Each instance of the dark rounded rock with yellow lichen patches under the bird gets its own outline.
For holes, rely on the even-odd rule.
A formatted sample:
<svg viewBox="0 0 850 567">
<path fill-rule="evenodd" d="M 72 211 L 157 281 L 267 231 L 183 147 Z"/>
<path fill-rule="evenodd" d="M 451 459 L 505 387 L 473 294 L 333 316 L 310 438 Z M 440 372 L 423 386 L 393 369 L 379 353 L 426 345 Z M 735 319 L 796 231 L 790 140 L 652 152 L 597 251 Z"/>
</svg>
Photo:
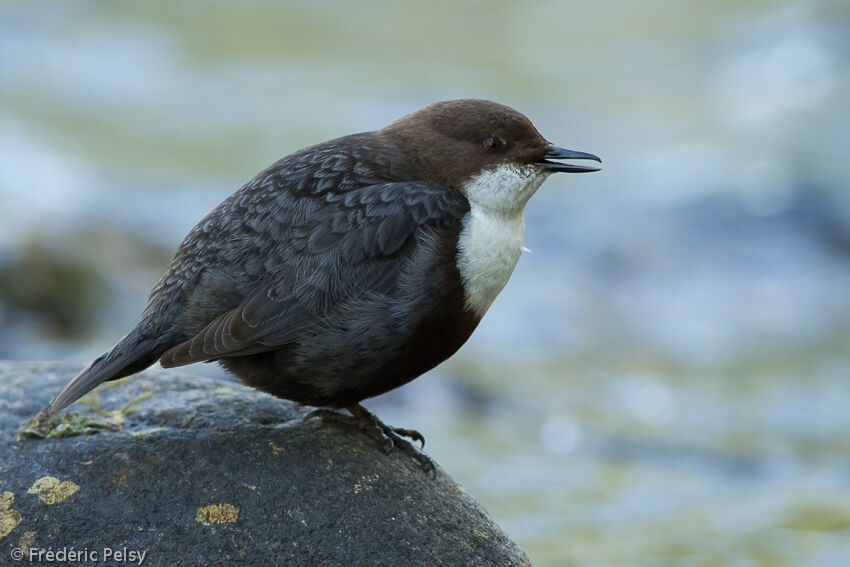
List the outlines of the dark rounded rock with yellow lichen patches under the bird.
<svg viewBox="0 0 850 567">
<path fill-rule="evenodd" d="M 442 469 L 236 383 L 143 372 L 16 440 L 78 370 L 0 362 L 0 564 L 529 565 Z"/>
</svg>

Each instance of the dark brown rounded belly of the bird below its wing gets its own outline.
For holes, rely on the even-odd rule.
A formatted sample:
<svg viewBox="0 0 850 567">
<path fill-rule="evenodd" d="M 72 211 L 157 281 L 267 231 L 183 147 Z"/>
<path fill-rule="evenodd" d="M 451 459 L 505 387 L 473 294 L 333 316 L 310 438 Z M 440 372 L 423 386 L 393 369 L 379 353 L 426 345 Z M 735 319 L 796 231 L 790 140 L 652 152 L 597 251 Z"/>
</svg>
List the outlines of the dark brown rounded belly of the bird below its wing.
<svg viewBox="0 0 850 567">
<path fill-rule="evenodd" d="M 432 298 L 433 299 L 433 298 Z M 376 304 L 340 314 L 274 351 L 222 359 L 243 382 L 314 406 L 345 407 L 397 388 L 454 354 L 480 318 L 457 286 L 438 302 Z"/>
</svg>

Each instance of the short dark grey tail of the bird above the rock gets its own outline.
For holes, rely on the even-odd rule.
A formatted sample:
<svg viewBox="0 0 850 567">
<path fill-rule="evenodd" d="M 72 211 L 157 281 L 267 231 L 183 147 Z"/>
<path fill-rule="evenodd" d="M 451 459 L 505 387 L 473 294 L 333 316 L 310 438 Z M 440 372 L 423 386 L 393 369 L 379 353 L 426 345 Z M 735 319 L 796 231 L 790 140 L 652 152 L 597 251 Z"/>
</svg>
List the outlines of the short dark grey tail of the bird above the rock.
<svg viewBox="0 0 850 567">
<path fill-rule="evenodd" d="M 77 374 L 48 404 L 48 415 L 62 411 L 103 382 L 144 370 L 167 350 L 160 343 L 143 321 Z"/>
</svg>

